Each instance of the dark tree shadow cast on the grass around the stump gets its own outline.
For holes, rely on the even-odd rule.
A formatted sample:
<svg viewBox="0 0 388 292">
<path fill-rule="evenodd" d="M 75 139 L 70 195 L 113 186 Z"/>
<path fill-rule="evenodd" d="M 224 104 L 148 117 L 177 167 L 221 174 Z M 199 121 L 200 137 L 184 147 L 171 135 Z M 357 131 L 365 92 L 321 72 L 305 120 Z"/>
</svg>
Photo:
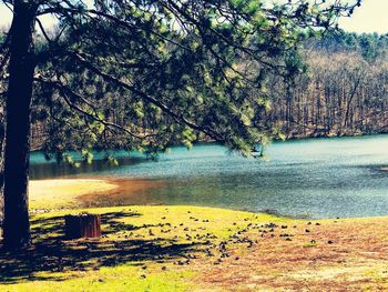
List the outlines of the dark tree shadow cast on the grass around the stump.
<svg viewBox="0 0 388 292">
<path fill-rule="evenodd" d="M 141 265 L 144 261 L 170 261 L 181 258 L 197 248 L 195 243 L 177 243 L 170 239 L 127 239 L 127 232 L 140 231 L 156 225 L 134 226 L 120 219 L 140 217 L 139 213 L 102 214 L 103 236 L 67 241 L 63 217 L 32 220 L 34 246 L 18 254 L 0 254 L 0 284 L 24 281 L 62 281 L 70 275 L 59 275 L 65 271 L 90 271 L 102 266 L 130 263 Z M 159 225 L 160 226 L 160 225 Z M 114 234 L 110 239 L 110 234 Z M 55 276 L 50 275 L 57 273 Z"/>
</svg>

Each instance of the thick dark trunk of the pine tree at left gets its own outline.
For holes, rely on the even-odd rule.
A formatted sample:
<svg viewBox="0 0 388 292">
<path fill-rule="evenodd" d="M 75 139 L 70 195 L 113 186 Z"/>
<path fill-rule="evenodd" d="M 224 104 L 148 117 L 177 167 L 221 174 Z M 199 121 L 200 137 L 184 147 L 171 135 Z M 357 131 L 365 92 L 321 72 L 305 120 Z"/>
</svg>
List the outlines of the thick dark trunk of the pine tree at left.
<svg viewBox="0 0 388 292">
<path fill-rule="evenodd" d="M 4 160 L 3 248 L 18 250 L 30 244 L 28 208 L 29 137 L 34 72 L 32 1 L 16 0 L 10 43 Z"/>
</svg>

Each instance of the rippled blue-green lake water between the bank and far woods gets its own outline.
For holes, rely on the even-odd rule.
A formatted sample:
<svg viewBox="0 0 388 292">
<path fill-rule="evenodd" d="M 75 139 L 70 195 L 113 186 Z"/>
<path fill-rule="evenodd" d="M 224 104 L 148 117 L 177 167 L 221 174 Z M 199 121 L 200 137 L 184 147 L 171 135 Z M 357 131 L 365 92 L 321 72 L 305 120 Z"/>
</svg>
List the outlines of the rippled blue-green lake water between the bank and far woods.
<svg viewBox="0 0 388 292">
<path fill-rule="evenodd" d="M 193 204 L 274 211 L 310 218 L 388 214 L 388 135 L 275 142 L 266 160 L 244 159 L 217 144 L 187 151 L 172 148 L 159 162 L 140 153 L 118 153 L 119 167 L 96 155 L 79 170 L 31 155 L 31 178 L 120 177 L 162 181 L 159 188 L 129 195 L 125 204 Z M 112 202 L 114 204 L 114 202 Z"/>
</svg>

